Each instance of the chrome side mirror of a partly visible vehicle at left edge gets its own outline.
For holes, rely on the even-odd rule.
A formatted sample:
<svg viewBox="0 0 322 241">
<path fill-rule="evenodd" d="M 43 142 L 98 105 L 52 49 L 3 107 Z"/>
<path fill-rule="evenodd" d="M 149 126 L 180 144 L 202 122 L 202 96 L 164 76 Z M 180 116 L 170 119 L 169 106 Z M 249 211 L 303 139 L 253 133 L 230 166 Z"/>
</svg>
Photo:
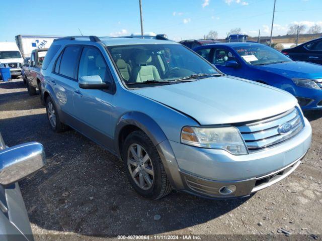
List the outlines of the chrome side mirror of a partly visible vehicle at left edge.
<svg viewBox="0 0 322 241">
<path fill-rule="evenodd" d="M 0 184 L 7 186 L 42 168 L 46 163 L 44 147 L 38 142 L 0 151 Z"/>
</svg>

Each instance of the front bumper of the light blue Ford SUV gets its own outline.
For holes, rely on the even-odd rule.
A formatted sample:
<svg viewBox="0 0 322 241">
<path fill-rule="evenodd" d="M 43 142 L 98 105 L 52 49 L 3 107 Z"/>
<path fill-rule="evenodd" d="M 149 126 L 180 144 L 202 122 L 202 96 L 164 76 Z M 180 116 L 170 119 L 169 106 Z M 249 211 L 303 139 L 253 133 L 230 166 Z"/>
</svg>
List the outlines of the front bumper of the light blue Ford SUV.
<svg viewBox="0 0 322 241">
<path fill-rule="evenodd" d="M 173 141 L 160 143 L 157 150 L 175 189 L 210 198 L 248 196 L 298 167 L 311 143 L 311 127 L 307 119 L 304 122 L 305 127 L 293 138 L 248 155 L 235 156 Z M 222 194 L 223 186 L 235 186 L 235 191 Z"/>
</svg>

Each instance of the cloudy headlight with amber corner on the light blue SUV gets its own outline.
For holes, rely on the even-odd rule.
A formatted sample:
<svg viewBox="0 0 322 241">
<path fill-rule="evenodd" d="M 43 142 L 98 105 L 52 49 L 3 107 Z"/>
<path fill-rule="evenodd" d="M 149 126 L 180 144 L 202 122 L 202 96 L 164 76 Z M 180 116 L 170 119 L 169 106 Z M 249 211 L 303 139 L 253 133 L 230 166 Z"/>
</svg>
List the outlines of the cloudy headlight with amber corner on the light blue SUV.
<svg viewBox="0 0 322 241">
<path fill-rule="evenodd" d="M 243 138 L 234 127 L 184 127 L 181 142 L 190 146 L 223 149 L 234 155 L 248 154 Z"/>
</svg>

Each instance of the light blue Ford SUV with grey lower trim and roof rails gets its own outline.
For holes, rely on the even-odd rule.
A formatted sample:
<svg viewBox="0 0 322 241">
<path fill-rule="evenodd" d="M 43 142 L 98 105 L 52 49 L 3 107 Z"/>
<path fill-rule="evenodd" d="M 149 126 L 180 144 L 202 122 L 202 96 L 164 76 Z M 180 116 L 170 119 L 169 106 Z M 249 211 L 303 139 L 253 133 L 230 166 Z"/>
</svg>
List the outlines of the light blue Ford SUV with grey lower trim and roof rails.
<svg viewBox="0 0 322 241">
<path fill-rule="evenodd" d="M 150 199 L 173 188 L 248 196 L 294 171 L 311 143 L 291 94 L 225 76 L 172 41 L 61 38 L 41 71 L 51 129 L 69 126 L 120 157 Z"/>
</svg>

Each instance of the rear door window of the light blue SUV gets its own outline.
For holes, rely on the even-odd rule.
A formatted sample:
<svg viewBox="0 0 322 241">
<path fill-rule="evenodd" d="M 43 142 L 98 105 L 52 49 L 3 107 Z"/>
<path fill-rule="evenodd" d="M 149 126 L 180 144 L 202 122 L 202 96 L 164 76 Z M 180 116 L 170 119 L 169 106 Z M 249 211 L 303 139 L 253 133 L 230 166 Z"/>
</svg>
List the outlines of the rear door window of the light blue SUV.
<svg viewBox="0 0 322 241">
<path fill-rule="evenodd" d="M 59 74 L 69 78 L 74 78 L 74 71 L 78 61 L 79 50 L 81 50 L 81 47 L 79 46 L 70 46 L 65 48 L 60 60 Z"/>
</svg>

